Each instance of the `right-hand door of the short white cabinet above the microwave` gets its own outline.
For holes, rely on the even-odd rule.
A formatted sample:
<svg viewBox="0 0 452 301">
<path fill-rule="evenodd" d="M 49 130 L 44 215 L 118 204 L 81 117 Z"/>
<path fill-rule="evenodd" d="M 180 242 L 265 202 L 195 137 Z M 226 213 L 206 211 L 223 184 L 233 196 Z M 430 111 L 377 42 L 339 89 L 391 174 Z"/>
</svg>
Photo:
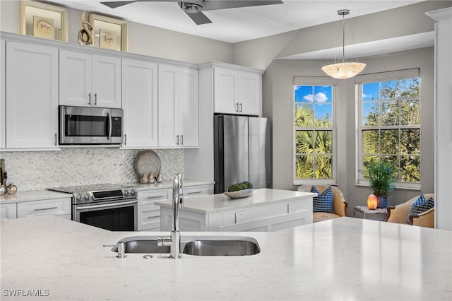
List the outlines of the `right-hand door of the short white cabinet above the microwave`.
<svg viewBox="0 0 452 301">
<path fill-rule="evenodd" d="M 93 54 L 93 106 L 121 108 L 121 59 Z"/>
</svg>

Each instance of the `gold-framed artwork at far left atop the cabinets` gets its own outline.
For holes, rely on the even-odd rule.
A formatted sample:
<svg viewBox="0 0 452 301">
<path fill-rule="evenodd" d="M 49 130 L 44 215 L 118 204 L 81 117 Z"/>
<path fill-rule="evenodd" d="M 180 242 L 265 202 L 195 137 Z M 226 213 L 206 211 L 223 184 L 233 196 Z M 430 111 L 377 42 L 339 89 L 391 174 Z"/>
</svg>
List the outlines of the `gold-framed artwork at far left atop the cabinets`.
<svg viewBox="0 0 452 301">
<path fill-rule="evenodd" d="M 67 42 L 66 8 L 35 1 L 20 1 L 20 33 Z"/>
</svg>

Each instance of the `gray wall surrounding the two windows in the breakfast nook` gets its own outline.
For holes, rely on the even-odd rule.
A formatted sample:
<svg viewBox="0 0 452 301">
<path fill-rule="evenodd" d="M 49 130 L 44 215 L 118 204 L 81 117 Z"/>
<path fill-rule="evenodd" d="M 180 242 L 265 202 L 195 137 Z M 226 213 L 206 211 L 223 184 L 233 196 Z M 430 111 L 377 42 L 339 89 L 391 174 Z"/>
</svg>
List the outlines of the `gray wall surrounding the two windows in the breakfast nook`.
<svg viewBox="0 0 452 301">
<path fill-rule="evenodd" d="M 364 73 L 420 68 L 421 71 L 421 149 L 422 191 L 396 189 L 389 205 L 403 203 L 411 197 L 434 191 L 434 49 L 428 47 L 406 52 L 361 58 L 367 64 Z M 273 187 L 296 189 L 293 184 L 293 77 L 324 76 L 321 66 L 327 61 L 275 60 L 266 73 L 263 114 L 273 119 Z M 329 63 L 328 63 L 329 64 Z M 269 87 L 270 86 L 270 87 Z M 371 193 L 368 187 L 358 187 L 355 179 L 356 128 L 355 80 L 340 80 L 336 100 L 338 188 L 349 202 L 349 214 L 357 205 L 365 205 Z"/>
</svg>

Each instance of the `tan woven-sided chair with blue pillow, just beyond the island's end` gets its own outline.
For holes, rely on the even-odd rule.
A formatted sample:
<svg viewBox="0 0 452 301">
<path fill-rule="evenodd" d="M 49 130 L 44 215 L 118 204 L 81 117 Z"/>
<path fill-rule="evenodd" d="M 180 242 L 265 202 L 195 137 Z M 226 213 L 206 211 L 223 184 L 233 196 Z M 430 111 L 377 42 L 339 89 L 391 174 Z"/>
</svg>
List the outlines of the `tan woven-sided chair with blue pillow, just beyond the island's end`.
<svg viewBox="0 0 452 301">
<path fill-rule="evenodd" d="M 300 185 L 297 190 L 304 192 L 311 192 L 311 187 L 313 185 Z M 327 189 L 328 185 L 314 185 L 319 193 L 322 193 L 325 189 Z M 333 191 L 333 211 L 334 213 L 328 212 L 314 212 L 313 213 L 313 221 L 314 223 L 320 222 L 321 220 L 330 220 L 331 218 L 340 218 L 341 216 L 348 216 L 347 208 L 348 203 L 344 199 L 344 195 L 338 187 L 331 187 Z"/>
</svg>

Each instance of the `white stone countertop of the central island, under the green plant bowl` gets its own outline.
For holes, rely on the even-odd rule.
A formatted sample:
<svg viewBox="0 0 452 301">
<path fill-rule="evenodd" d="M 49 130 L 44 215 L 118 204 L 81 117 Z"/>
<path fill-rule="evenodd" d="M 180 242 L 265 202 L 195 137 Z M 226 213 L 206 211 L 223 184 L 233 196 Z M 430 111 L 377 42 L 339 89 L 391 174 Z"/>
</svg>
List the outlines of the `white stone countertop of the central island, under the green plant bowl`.
<svg viewBox="0 0 452 301">
<path fill-rule="evenodd" d="M 280 203 L 284 201 L 311 199 L 317 194 L 302 191 L 290 191 L 280 189 L 254 189 L 253 194 L 242 199 L 230 199 L 224 194 L 206 194 L 201 196 L 191 196 L 184 199 L 182 210 L 198 213 L 216 213 L 231 211 L 239 208 L 256 207 L 269 203 Z M 172 207 L 172 201 L 159 201 L 155 205 Z"/>
</svg>

